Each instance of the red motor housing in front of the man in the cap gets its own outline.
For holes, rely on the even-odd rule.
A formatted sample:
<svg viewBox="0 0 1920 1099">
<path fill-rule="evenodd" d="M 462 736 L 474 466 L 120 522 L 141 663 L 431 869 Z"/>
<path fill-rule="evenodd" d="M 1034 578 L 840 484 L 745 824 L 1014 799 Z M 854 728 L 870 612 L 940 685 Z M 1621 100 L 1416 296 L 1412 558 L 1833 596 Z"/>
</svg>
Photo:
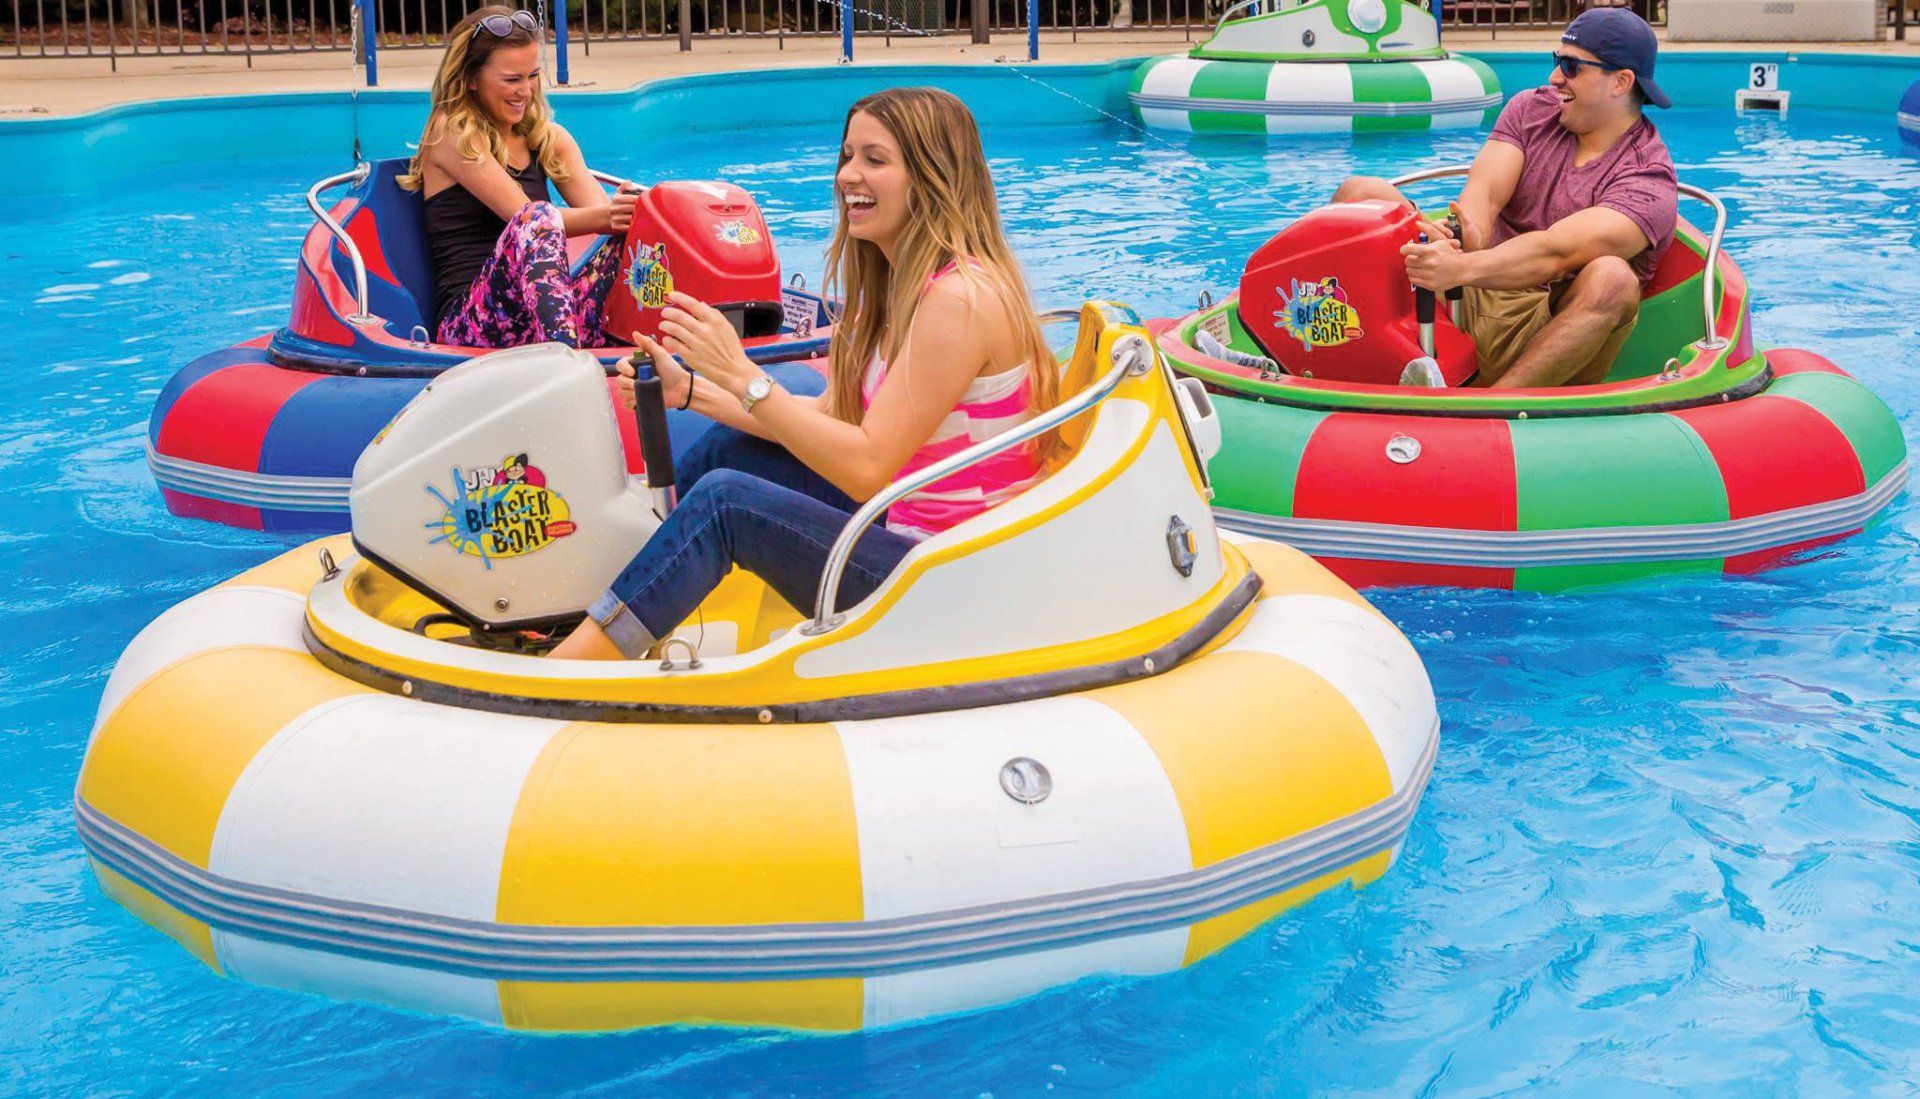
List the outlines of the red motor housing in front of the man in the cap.
<svg viewBox="0 0 1920 1099">
<path fill-rule="evenodd" d="M 1398 386 L 1400 371 L 1425 354 L 1400 257 L 1417 236 L 1417 215 L 1394 202 L 1323 206 L 1246 261 L 1240 323 L 1292 375 Z M 1444 307 L 1434 313 L 1434 361 L 1457 386 L 1478 354 Z"/>
</svg>

